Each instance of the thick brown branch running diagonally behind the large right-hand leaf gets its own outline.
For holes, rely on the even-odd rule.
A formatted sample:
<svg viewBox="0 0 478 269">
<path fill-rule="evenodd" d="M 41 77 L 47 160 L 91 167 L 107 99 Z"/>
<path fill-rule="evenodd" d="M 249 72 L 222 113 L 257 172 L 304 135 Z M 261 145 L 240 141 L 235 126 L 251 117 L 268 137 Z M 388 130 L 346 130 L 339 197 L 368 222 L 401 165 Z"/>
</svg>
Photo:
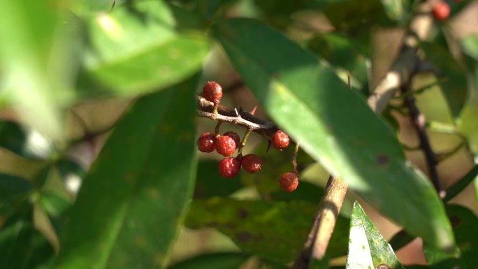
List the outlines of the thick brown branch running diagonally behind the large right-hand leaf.
<svg viewBox="0 0 478 269">
<path fill-rule="evenodd" d="M 419 58 L 417 47 L 419 40 L 424 39 L 430 31 L 433 19 L 429 1 L 421 1 L 417 13 L 410 22 L 409 29 L 403 39 L 402 47 L 384 78 L 379 81 L 368 98 L 368 106 L 377 114 L 381 114 L 396 94 L 396 91 L 407 85 L 417 72 Z M 309 268 L 312 259 L 322 259 L 325 255 L 328 241 L 333 233 L 338 212 L 342 208 L 347 184 L 341 180 L 329 177 L 326 191 L 319 204 L 319 210 L 314 219 L 311 231 L 305 242 L 303 251 L 297 256 L 295 269 Z"/>
</svg>

